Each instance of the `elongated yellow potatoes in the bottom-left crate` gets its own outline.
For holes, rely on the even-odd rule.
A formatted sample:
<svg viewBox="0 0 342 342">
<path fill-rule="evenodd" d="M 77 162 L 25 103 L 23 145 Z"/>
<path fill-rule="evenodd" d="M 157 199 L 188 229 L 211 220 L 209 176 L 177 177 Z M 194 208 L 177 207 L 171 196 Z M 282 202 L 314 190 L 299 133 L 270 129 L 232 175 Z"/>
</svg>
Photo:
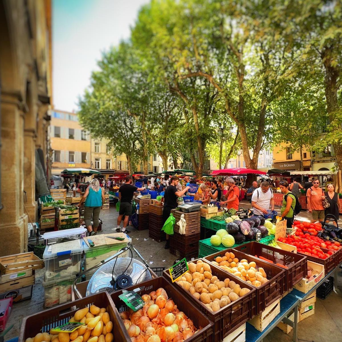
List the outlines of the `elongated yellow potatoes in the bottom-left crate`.
<svg viewBox="0 0 342 342">
<path fill-rule="evenodd" d="M 91 305 L 75 312 L 69 322 L 80 322 L 86 324 L 73 332 L 38 333 L 33 338 L 27 338 L 25 342 L 113 342 L 113 322 L 106 309 Z"/>
</svg>

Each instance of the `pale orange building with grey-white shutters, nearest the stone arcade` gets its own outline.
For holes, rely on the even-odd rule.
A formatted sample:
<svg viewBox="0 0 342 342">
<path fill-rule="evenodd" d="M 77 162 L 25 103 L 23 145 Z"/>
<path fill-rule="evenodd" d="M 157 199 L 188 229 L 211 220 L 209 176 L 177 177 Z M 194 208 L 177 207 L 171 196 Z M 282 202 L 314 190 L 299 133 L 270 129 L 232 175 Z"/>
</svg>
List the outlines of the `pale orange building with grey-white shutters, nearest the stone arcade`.
<svg viewBox="0 0 342 342">
<path fill-rule="evenodd" d="M 90 168 L 90 134 L 83 130 L 76 113 L 51 111 L 51 173 L 59 175 L 66 168 Z"/>
</svg>

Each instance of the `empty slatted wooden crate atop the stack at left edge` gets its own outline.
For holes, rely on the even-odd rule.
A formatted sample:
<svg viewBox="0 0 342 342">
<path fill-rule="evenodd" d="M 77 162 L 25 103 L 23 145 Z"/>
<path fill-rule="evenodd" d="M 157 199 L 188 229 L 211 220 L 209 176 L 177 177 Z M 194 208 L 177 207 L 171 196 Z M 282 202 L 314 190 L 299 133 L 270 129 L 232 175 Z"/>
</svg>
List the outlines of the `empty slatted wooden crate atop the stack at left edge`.
<svg viewBox="0 0 342 342">
<path fill-rule="evenodd" d="M 1 274 L 17 273 L 25 269 L 43 268 L 44 261 L 33 252 L 8 255 L 0 258 Z"/>
</svg>

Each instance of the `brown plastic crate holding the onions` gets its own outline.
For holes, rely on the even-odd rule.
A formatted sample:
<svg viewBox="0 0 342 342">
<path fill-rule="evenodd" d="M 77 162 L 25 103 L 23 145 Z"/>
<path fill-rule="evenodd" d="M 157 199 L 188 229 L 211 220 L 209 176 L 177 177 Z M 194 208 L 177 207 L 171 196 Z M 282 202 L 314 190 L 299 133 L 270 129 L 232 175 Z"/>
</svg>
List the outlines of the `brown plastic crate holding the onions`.
<svg viewBox="0 0 342 342">
<path fill-rule="evenodd" d="M 177 309 L 180 311 L 183 311 L 188 318 L 190 318 L 194 326 L 196 328 L 202 327 L 201 330 L 196 332 L 192 337 L 188 338 L 187 342 L 211 342 L 212 336 L 213 336 L 213 323 L 201 312 L 196 310 L 194 305 L 184 296 L 177 291 L 177 288 L 172 286 L 171 283 L 165 279 L 164 277 L 158 277 L 156 279 L 151 279 L 145 282 L 142 282 L 140 284 L 131 286 L 127 288 L 126 290 L 132 291 L 133 289 L 137 289 L 137 293 L 140 295 L 143 295 L 145 293 L 150 293 L 152 291 L 156 291 L 158 288 L 165 289 L 166 293 L 168 294 L 169 298 L 171 298 L 174 303 L 177 305 Z M 119 316 L 119 313 L 123 311 L 128 311 L 127 305 L 119 299 L 119 295 L 122 294 L 122 290 L 117 291 L 115 293 L 111 294 L 111 299 L 114 302 L 115 305 L 115 311 L 117 312 L 117 316 Z M 120 322 L 121 329 L 124 330 L 125 337 L 127 338 L 127 341 L 131 341 L 125 326 L 123 325 L 123 322 L 121 320 Z M 116 342 L 115 338 L 114 341 Z"/>
</svg>

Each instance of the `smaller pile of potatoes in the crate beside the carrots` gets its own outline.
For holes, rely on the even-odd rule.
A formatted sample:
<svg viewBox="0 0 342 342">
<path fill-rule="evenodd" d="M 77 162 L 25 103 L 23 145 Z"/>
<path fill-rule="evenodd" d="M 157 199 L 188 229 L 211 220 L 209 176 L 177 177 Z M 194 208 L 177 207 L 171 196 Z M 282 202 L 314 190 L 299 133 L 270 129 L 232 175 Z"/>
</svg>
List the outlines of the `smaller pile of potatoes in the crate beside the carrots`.
<svg viewBox="0 0 342 342">
<path fill-rule="evenodd" d="M 257 269 L 257 264 L 254 261 L 249 263 L 247 259 L 241 259 L 239 261 L 232 252 L 226 252 L 224 257 L 216 257 L 212 263 L 255 287 L 259 287 L 268 281 L 262 267 Z"/>
</svg>

